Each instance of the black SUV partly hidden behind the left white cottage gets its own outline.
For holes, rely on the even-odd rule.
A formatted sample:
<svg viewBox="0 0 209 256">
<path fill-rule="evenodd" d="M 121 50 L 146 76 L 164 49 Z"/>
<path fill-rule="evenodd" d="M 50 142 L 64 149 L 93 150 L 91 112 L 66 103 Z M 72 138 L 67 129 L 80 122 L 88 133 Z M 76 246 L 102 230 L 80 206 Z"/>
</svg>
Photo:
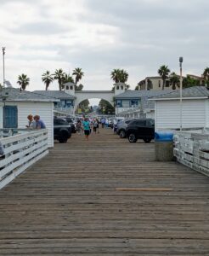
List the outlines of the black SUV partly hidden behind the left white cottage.
<svg viewBox="0 0 209 256">
<path fill-rule="evenodd" d="M 66 143 L 71 137 L 71 125 L 65 119 L 54 118 L 54 140 Z"/>
</svg>

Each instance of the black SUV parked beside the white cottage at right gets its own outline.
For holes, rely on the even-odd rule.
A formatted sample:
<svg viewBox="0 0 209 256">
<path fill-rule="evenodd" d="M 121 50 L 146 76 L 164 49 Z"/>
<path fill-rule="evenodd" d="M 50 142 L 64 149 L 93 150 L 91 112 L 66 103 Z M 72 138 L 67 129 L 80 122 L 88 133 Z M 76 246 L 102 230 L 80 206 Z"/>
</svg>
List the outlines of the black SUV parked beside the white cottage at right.
<svg viewBox="0 0 209 256">
<path fill-rule="evenodd" d="M 134 119 L 127 125 L 126 129 L 129 143 L 136 143 L 143 139 L 144 143 L 150 143 L 155 138 L 154 119 Z"/>
</svg>

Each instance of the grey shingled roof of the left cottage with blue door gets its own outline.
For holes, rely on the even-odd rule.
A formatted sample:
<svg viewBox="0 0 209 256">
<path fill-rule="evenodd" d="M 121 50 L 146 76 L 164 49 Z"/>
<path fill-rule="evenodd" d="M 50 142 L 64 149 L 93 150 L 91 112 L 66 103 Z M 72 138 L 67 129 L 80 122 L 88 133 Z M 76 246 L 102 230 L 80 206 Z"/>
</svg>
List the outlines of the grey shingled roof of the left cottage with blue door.
<svg viewBox="0 0 209 256">
<path fill-rule="evenodd" d="M 0 90 L 0 100 L 3 100 L 3 98 L 6 102 L 59 102 L 58 99 L 52 97 L 41 96 L 31 91 L 13 87 Z"/>
</svg>

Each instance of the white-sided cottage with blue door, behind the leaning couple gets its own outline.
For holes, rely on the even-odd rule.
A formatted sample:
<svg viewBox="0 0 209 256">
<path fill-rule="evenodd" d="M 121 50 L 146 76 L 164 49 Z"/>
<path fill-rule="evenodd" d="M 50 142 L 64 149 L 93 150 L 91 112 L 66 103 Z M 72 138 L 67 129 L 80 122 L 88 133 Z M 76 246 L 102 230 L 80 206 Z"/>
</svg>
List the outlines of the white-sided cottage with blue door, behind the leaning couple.
<svg viewBox="0 0 209 256">
<path fill-rule="evenodd" d="M 28 114 L 38 114 L 48 129 L 48 147 L 53 147 L 54 102 L 59 100 L 25 90 L 0 90 L 0 128 L 24 129 L 28 123 Z"/>
</svg>

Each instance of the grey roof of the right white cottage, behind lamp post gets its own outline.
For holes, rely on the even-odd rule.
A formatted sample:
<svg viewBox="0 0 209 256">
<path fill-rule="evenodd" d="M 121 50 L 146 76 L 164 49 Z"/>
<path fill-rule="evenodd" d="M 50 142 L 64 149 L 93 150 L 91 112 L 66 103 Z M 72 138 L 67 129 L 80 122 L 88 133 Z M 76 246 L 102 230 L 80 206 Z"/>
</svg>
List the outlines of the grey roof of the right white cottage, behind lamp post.
<svg viewBox="0 0 209 256">
<path fill-rule="evenodd" d="M 205 86 L 193 86 L 182 90 L 183 98 L 208 98 L 209 90 Z M 176 99 L 180 97 L 180 90 L 175 90 L 170 93 L 155 96 L 155 100 Z"/>
</svg>

